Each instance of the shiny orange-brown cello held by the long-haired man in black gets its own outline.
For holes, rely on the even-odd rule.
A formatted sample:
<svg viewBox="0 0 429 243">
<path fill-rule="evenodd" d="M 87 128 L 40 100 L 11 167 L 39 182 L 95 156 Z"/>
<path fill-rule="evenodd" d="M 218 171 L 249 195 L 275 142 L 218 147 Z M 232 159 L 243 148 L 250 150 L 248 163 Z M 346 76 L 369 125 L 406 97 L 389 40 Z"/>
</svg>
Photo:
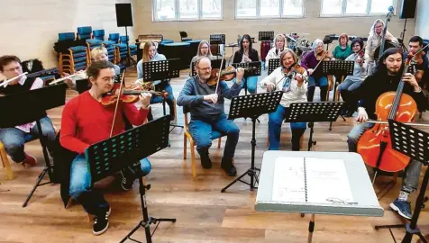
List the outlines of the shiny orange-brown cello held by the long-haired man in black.
<svg viewBox="0 0 429 243">
<path fill-rule="evenodd" d="M 358 141 L 357 152 L 361 154 L 365 164 L 376 168 L 374 178 L 378 170 L 397 172 L 404 169 L 410 161 L 410 157 L 392 148 L 388 124 L 382 121 L 392 119 L 410 122 L 415 118 L 417 103 L 409 94 L 403 94 L 405 82 L 402 79 L 414 58 L 406 59 L 397 91 L 379 95 L 376 102 L 377 121 L 370 121 L 375 125 L 366 130 Z"/>
</svg>

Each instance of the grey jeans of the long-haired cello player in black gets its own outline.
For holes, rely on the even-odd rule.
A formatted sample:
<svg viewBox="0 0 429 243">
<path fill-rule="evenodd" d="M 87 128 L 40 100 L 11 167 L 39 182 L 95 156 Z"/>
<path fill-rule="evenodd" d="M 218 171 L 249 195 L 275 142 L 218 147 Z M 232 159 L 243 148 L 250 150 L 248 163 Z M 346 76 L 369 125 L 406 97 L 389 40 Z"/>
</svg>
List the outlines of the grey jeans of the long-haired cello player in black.
<svg viewBox="0 0 429 243">
<path fill-rule="evenodd" d="M 360 123 L 353 127 L 350 133 L 347 135 L 347 143 L 349 145 L 349 152 L 357 152 L 358 141 L 365 130 L 369 130 L 374 126 L 373 123 Z M 418 187 L 418 180 L 420 178 L 420 170 L 422 169 L 422 163 L 411 159 L 408 166 L 406 166 L 406 175 L 402 181 L 402 191 L 407 193 L 413 193 Z"/>
</svg>

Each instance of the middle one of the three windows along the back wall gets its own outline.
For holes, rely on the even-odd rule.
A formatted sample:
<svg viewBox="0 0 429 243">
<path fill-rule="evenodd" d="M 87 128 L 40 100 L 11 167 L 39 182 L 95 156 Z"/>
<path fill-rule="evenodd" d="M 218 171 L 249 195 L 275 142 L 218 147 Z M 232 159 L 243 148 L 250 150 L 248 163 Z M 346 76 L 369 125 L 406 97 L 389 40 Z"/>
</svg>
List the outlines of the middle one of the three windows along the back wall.
<svg viewBox="0 0 429 243">
<path fill-rule="evenodd" d="M 303 16 L 304 0 L 235 0 L 236 18 Z"/>
</svg>

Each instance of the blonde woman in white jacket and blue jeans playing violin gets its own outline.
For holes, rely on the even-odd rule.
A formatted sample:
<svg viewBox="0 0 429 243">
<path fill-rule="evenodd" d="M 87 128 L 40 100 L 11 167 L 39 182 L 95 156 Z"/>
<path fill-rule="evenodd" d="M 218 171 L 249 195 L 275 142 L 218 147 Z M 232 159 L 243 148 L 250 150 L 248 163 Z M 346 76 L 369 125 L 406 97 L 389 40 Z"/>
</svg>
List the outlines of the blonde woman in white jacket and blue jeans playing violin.
<svg viewBox="0 0 429 243">
<path fill-rule="evenodd" d="M 280 104 L 276 112 L 269 113 L 269 150 L 280 147 L 281 124 L 285 120 L 290 103 L 307 102 L 306 88 L 308 75 L 304 67 L 297 64 L 298 58 L 291 49 L 286 49 L 280 56 L 280 67 L 262 79 L 260 86 L 268 92 L 282 90 Z M 306 131 L 306 122 L 290 123 L 292 130 L 292 150 L 299 151 L 300 139 Z"/>
</svg>

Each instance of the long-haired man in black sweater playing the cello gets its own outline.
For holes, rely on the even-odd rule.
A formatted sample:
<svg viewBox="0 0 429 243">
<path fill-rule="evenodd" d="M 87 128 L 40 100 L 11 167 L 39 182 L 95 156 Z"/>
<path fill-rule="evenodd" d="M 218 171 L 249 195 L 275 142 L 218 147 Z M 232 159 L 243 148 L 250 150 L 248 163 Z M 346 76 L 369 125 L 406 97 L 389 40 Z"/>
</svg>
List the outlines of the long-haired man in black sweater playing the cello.
<svg viewBox="0 0 429 243">
<path fill-rule="evenodd" d="M 368 76 L 362 82 L 361 86 L 356 89 L 355 98 L 357 99 L 356 101 L 359 101 L 356 121 L 361 123 L 355 125 L 347 135 L 350 152 L 357 151 L 358 141 L 363 132 L 374 126 L 374 123 L 366 121 L 369 119 L 377 120 L 375 108 L 379 96 L 389 91 L 396 92 L 401 77 L 405 82 L 403 93 L 413 97 L 419 111 L 424 110 L 425 98 L 422 88 L 418 85 L 414 75 L 406 73 L 405 76 L 402 76 L 404 67 L 402 49 L 387 49 L 381 58 L 379 58 L 379 65 L 375 73 Z M 414 160 L 410 161 L 406 167 L 406 176 L 403 180 L 399 197 L 390 203 L 390 208 L 397 211 L 406 219 L 411 219 L 412 216 L 408 195 L 415 192 L 418 186 L 421 167 L 421 163 Z"/>
</svg>

